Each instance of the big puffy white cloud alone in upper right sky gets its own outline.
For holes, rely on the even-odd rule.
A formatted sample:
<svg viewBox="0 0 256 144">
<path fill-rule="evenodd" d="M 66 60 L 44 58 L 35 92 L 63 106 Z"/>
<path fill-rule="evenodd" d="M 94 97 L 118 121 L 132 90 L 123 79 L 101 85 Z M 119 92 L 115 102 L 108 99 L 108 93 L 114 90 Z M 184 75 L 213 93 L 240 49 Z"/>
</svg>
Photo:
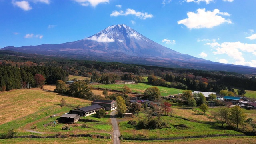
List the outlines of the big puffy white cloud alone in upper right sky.
<svg viewBox="0 0 256 144">
<path fill-rule="evenodd" d="M 213 28 L 214 26 L 218 26 L 224 22 L 231 24 L 230 19 L 222 18 L 219 15 L 228 16 L 229 14 L 226 12 L 220 12 L 220 10 L 215 9 L 211 11 L 205 11 L 205 9 L 197 9 L 197 13 L 188 12 L 188 18 L 178 21 L 178 24 L 184 24 L 187 28 Z"/>
</svg>

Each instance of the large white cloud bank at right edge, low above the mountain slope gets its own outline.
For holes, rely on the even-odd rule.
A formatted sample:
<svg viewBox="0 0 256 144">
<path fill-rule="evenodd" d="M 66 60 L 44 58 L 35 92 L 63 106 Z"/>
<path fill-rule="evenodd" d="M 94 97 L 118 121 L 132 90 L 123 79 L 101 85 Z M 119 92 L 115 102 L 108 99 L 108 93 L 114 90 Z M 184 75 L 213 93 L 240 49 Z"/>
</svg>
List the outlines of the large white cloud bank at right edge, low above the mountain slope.
<svg viewBox="0 0 256 144">
<path fill-rule="evenodd" d="M 206 45 L 210 45 L 215 50 L 213 52 L 214 55 L 225 54 L 235 60 L 233 64 L 256 67 L 256 60 L 246 62 L 243 57 L 244 54 L 256 54 L 256 44 L 246 44 L 241 42 L 224 42 L 219 44 L 215 42 L 207 43 Z"/>
</svg>

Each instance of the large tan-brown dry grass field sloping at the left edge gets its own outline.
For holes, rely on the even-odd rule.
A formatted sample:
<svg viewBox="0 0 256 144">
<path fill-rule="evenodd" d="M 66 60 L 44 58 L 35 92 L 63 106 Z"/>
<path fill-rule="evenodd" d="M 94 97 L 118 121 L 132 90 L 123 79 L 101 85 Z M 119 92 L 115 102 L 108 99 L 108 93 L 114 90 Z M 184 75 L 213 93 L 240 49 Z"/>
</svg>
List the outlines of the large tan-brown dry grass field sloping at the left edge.
<svg viewBox="0 0 256 144">
<path fill-rule="evenodd" d="M 49 106 L 52 106 L 53 109 L 60 108 L 58 104 L 62 98 L 69 104 L 84 106 L 90 103 L 88 100 L 63 96 L 40 88 L 1 92 L 0 124 L 28 116 Z M 40 112 L 38 114 L 40 115 Z"/>
</svg>

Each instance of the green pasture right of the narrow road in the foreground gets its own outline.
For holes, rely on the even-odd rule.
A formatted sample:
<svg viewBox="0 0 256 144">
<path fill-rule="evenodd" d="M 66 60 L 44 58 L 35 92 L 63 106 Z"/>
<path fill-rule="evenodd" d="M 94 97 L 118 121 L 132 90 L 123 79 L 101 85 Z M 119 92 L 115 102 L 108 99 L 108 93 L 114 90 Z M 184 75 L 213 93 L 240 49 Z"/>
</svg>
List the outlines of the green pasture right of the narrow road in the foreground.
<svg viewBox="0 0 256 144">
<path fill-rule="evenodd" d="M 203 136 L 215 134 L 242 134 L 241 132 L 226 130 L 217 126 L 203 124 L 198 122 L 190 122 L 181 118 L 170 116 L 162 116 L 163 121 L 169 122 L 170 128 L 162 128 L 155 130 L 138 129 L 136 126 L 127 124 L 128 121 L 119 123 L 120 133 L 124 138 L 172 138 L 184 136 Z M 185 124 L 188 128 L 177 128 L 177 125 Z"/>
</svg>

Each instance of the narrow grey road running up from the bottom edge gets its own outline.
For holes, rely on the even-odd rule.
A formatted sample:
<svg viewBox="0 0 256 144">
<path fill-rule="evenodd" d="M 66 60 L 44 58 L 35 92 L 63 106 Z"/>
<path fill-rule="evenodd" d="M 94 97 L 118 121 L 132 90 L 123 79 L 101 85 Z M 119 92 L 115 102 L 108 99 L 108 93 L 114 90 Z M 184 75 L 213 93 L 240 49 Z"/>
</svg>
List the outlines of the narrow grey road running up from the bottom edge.
<svg viewBox="0 0 256 144">
<path fill-rule="evenodd" d="M 116 121 L 116 118 L 115 118 L 114 114 L 116 114 L 116 111 L 112 111 L 110 113 L 110 115 L 111 115 L 111 124 L 113 126 L 113 140 L 114 140 L 114 144 L 120 144 L 120 140 L 119 140 L 120 131 L 119 131 L 118 124 L 117 124 L 117 121 Z"/>
</svg>

